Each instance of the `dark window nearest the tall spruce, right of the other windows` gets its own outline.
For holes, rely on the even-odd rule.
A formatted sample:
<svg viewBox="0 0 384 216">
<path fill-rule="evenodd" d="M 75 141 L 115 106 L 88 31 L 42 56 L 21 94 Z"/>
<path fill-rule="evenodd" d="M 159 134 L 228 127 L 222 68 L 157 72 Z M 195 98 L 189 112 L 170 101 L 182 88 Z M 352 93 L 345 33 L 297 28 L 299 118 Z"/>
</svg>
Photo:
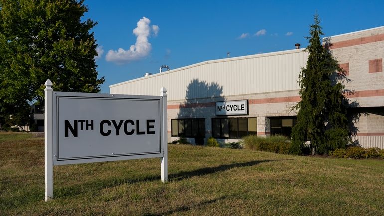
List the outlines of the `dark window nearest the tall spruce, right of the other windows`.
<svg viewBox="0 0 384 216">
<path fill-rule="evenodd" d="M 271 135 L 291 137 L 292 127 L 296 125 L 296 117 L 270 117 Z"/>
</svg>

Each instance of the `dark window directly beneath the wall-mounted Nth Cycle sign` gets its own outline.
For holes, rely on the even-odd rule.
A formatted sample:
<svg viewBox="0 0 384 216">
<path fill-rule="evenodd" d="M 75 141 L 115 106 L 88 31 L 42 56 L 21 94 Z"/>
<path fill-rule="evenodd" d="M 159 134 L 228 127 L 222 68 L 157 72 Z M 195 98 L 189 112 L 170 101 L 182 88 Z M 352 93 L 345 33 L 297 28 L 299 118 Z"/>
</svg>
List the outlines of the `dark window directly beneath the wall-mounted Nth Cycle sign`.
<svg viewBox="0 0 384 216">
<path fill-rule="evenodd" d="M 213 118 L 212 136 L 215 138 L 240 139 L 257 134 L 256 118 Z"/>
</svg>

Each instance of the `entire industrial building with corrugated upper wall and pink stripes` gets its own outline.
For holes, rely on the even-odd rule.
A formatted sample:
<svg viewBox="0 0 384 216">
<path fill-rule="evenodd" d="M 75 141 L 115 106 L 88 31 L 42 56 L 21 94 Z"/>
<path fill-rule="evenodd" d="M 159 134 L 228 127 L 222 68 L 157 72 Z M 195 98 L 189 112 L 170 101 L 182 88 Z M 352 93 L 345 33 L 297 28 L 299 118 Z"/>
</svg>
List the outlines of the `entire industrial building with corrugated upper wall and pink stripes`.
<svg viewBox="0 0 384 216">
<path fill-rule="evenodd" d="M 347 72 L 353 140 L 384 148 L 384 26 L 326 38 Z M 159 95 L 168 90 L 168 142 L 210 136 L 233 142 L 247 134 L 290 135 L 303 48 L 210 60 L 109 86 L 111 94 Z M 148 75 L 148 74 L 147 74 Z"/>
</svg>

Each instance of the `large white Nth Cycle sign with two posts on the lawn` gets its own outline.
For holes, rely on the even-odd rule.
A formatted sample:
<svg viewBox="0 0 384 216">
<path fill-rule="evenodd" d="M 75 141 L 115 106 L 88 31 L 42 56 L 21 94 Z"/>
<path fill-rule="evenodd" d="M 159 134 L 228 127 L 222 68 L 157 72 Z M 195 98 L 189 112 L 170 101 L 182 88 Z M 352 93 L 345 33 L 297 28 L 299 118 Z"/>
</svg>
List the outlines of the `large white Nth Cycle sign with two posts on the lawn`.
<svg viewBox="0 0 384 216">
<path fill-rule="evenodd" d="M 45 200 L 53 165 L 161 158 L 167 181 L 167 90 L 160 96 L 53 92 L 45 83 Z"/>
</svg>

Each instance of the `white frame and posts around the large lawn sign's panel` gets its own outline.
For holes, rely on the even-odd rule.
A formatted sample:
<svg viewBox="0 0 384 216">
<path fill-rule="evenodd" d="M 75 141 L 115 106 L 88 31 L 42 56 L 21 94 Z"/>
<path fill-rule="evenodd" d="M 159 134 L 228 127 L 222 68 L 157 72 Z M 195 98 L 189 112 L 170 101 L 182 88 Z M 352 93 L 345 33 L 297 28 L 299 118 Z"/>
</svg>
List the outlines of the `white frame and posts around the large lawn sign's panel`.
<svg viewBox="0 0 384 216">
<path fill-rule="evenodd" d="M 101 161 L 130 160 L 139 158 L 160 158 L 160 181 L 168 181 L 168 146 L 167 146 L 167 90 L 162 87 L 160 96 L 142 96 L 142 95 L 117 95 L 117 94 L 97 94 L 97 93 L 75 93 L 75 92 L 54 92 L 52 82 L 48 79 L 45 82 L 45 112 L 44 112 L 44 173 L 45 173 L 45 201 L 53 199 L 53 166 L 64 164 L 91 163 Z M 159 101 L 159 151 L 149 154 L 123 154 L 119 156 L 109 155 L 108 157 L 91 157 L 84 160 L 57 160 L 58 143 L 58 98 L 60 97 L 78 97 L 116 100 L 151 100 Z M 148 123 L 147 123 L 148 126 Z M 152 126 L 152 125 L 151 125 Z M 152 128 L 152 127 L 151 127 Z M 93 129 L 92 129 L 93 130 Z M 148 130 L 148 129 L 147 129 Z M 145 136 L 145 135 L 144 135 Z"/>
</svg>

